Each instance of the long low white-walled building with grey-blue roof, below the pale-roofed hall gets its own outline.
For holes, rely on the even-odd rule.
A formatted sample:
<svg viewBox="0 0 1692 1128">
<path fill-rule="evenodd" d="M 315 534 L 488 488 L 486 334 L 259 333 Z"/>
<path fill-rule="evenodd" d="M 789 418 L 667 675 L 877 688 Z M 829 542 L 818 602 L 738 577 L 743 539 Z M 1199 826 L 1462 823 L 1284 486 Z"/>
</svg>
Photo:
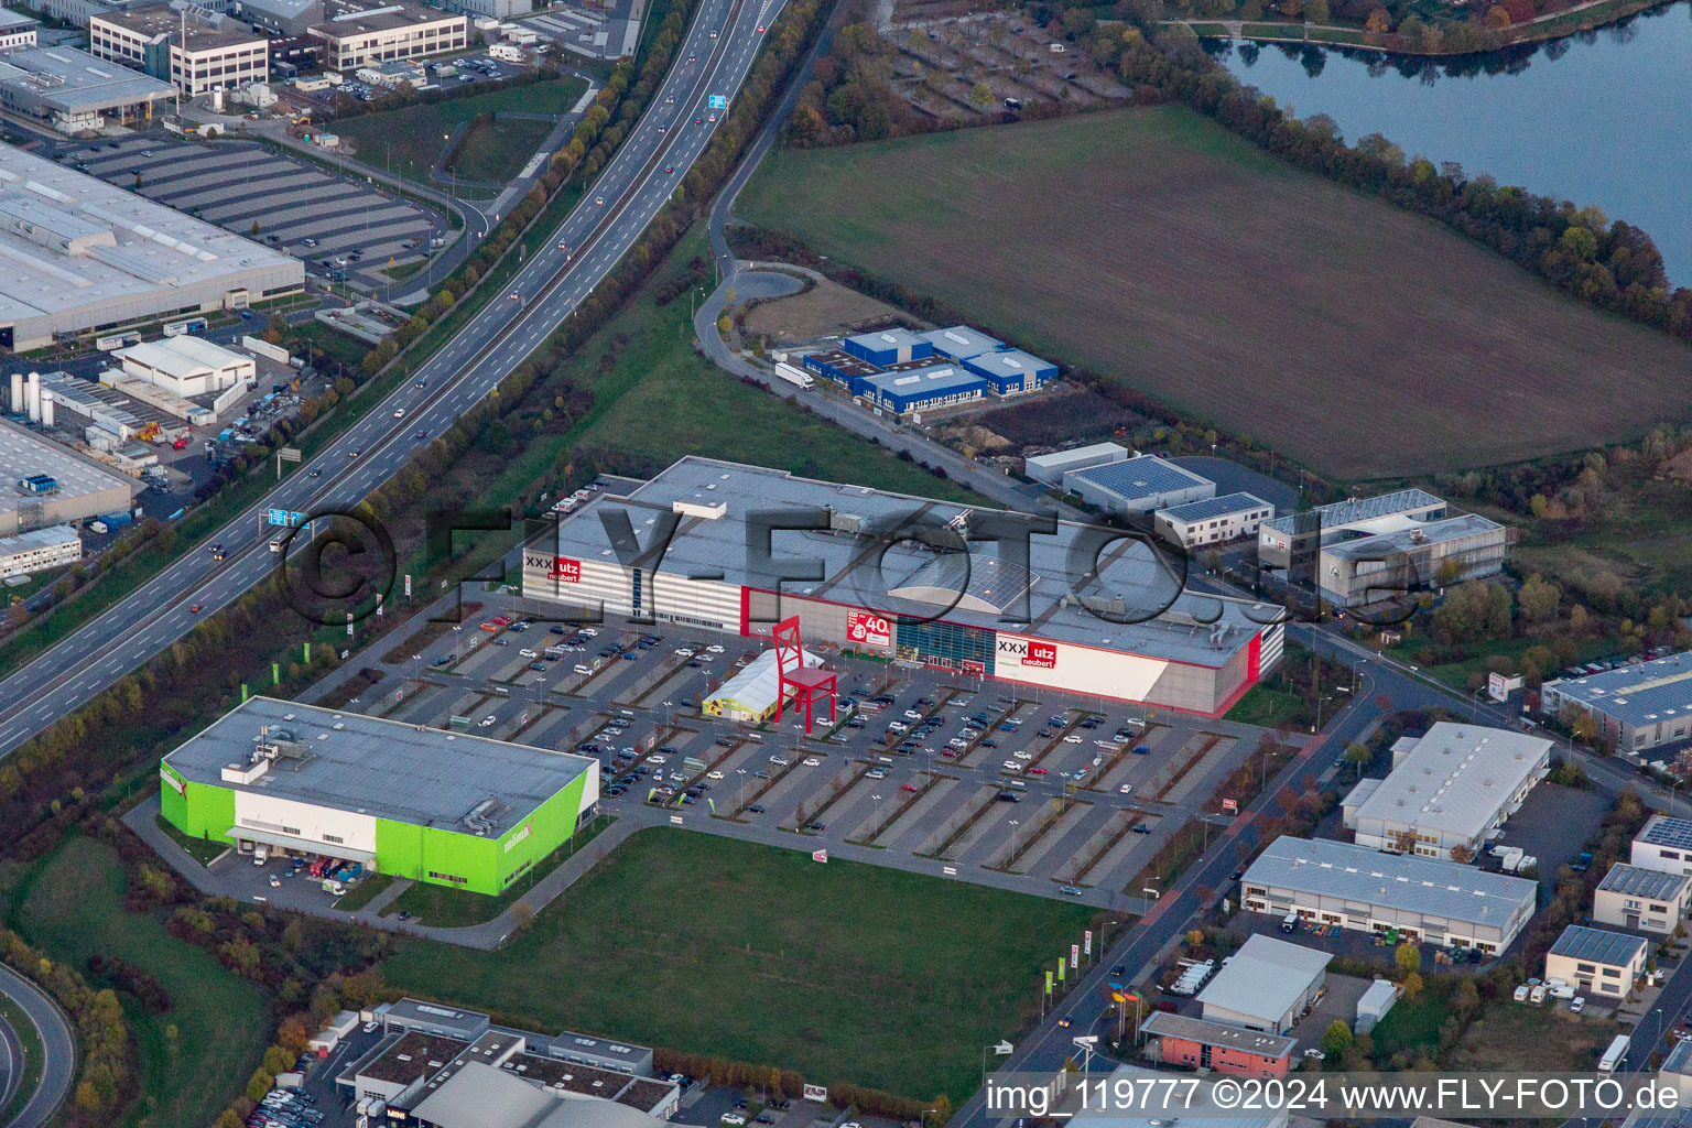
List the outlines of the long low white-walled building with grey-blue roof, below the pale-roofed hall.
<svg viewBox="0 0 1692 1128">
<path fill-rule="evenodd" d="M 1533 917 L 1538 890 L 1536 881 L 1474 866 L 1284 834 L 1245 869 L 1240 905 L 1494 956 Z"/>
</svg>

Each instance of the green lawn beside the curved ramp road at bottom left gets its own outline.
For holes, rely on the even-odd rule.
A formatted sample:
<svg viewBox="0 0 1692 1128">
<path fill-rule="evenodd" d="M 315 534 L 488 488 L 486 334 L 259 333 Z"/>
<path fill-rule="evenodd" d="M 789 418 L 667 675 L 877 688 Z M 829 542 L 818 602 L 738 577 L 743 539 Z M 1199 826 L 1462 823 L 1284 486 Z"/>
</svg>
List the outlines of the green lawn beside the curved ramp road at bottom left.
<svg viewBox="0 0 1692 1128">
<path fill-rule="evenodd" d="M 14 927 L 51 959 L 81 969 L 95 952 L 118 956 L 169 991 L 173 1006 L 164 1015 L 124 999 L 146 1094 L 122 1121 L 125 1128 L 210 1125 L 262 1060 L 271 1023 L 264 993 L 156 918 L 125 913 L 124 871 L 103 842 L 78 835 L 49 856 Z M 174 1043 L 169 1027 L 176 1027 Z"/>
</svg>

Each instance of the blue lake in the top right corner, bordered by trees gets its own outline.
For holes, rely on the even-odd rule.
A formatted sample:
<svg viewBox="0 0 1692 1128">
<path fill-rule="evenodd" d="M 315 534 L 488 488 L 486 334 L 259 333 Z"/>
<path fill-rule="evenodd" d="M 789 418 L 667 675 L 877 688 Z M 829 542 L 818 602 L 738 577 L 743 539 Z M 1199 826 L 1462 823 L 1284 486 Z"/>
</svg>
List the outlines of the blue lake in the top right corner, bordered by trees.
<svg viewBox="0 0 1692 1128">
<path fill-rule="evenodd" d="M 1597 205 L 1692 286 L 1692 3 L 1445 64 L 1288 49 L 1237 42 L 1218 61 L 1298 117 L 1327 113 L 1349 142 L 1384 134 L 1409 156 Z"/>
</svg>

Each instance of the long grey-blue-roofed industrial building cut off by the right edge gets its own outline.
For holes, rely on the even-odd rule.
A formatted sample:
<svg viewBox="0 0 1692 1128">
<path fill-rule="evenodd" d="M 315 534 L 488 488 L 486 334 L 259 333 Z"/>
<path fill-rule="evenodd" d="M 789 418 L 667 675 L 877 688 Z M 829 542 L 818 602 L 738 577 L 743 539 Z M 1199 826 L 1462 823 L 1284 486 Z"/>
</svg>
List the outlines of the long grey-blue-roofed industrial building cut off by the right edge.
<svg viewBox="0 0 1692 1128">
<path fill-rule="evenodd" d="M 1563 724 L 1590 717 L 1597 739 L 1621 753 L 1685 741 L 1692 736 L 1692 651 L 1546 682 L 1540 709 Z"/>
</svg>

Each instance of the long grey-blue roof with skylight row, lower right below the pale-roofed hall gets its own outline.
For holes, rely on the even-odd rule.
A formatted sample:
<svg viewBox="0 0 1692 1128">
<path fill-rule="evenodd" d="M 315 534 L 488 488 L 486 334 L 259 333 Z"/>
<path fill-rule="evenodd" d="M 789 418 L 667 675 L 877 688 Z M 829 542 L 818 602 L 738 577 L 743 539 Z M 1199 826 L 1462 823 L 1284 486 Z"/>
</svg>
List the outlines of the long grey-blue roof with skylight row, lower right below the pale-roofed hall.
<svg viewBox="0 0 1692 1128">
<path fill-rule="evenodd" d="M 1497 928 L 1521 910 L 1533 912 L 1540 890 L 1536 881 L 1435 857 L 1289 834 L 1257 856 L 1244 881 Z"/>
</svg>

